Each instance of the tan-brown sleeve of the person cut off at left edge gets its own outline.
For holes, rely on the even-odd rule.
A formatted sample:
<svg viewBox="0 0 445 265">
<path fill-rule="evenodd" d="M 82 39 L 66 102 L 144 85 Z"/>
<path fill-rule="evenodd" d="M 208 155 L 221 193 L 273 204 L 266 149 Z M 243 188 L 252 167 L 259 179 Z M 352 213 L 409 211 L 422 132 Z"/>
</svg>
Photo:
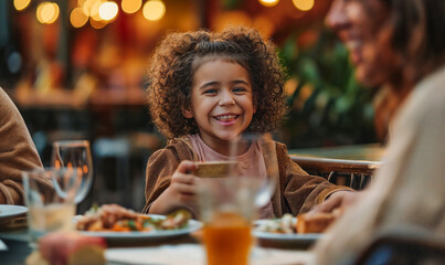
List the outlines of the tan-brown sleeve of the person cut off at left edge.
<svg viewBox="0 0 445 265">
<path fill-rule="evenodd" d="M 23 204 L 22 170 L 42 168 L 22 116 L 0 87 L 0 204 Z M 51 182 L 42 180 L 43 186 Z"/>
</svg>

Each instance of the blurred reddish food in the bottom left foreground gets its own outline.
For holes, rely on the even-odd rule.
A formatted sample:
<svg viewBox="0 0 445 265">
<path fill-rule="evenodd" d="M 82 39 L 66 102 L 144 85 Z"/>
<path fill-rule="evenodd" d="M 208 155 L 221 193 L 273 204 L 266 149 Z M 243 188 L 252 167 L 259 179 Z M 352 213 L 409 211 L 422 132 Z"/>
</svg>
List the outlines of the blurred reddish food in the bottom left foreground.
<svg viewBox="0 0 445 265">
<path fill-rule="evenodd" d="M 39 250 L 28 256 L 27 265 L 105 264 L 107 243 L 102 237 L 77 232 L 54 232 L 39 240 Z"/>
</svg>

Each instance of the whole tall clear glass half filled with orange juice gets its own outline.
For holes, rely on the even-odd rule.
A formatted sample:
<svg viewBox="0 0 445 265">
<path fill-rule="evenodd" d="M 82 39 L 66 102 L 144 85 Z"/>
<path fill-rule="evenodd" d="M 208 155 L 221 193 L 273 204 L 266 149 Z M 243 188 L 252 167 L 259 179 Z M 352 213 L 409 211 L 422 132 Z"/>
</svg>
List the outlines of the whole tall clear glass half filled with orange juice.
<svg viewBox="0 0 445 265">
<path fill-rule="evenodd" d="M 198 187 L 208 265 L 247 265 L 255 216 L 248 183 L 241 178 L 203 178 Z"/>
</svg>

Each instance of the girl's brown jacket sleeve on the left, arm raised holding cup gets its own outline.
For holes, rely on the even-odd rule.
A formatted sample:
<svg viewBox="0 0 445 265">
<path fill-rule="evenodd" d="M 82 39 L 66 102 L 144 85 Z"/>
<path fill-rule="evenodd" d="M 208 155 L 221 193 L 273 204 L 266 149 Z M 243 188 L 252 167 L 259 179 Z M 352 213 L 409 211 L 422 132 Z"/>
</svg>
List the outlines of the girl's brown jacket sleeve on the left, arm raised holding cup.
<svg viewBox="0 0 445 265">
<path fill-rule="evenodd" d="M 183 138 L 171 140 L 166 148 L 151 155 L 147 162 L 146 205 L 142 213 L 148 213 L 151 203 L 170 186 L 170 178 L 182 160 L 197 160 Z"/>
</svg>

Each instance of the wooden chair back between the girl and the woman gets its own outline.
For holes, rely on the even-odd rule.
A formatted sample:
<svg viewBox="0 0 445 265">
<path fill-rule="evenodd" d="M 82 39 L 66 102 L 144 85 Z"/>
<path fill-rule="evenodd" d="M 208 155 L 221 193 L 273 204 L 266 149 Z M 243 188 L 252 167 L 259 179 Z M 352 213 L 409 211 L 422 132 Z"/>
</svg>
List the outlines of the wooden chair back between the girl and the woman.
<svg viewBox="0 0 445 265">
<path fill-rule="evenodd" d="M 290 156 L 309 174 L 327 179 L 335 184 L 362 190 L 371 180 L 380 162 Z"/>
</svg>

